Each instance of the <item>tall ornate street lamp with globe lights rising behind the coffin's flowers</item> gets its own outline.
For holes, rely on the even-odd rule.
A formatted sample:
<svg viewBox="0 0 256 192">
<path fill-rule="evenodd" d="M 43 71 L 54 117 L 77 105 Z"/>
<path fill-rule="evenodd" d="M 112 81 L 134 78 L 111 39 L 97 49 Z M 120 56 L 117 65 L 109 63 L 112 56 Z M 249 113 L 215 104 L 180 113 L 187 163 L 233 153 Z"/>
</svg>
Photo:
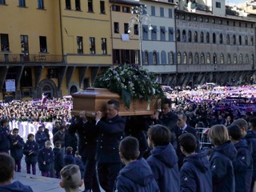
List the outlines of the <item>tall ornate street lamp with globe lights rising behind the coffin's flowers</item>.
<svg viewBox="0 0 256 192">
<path fill-rule="evenodd" d="M 138 40 L 139 40 L 139 64 L 142 66 L 142 25 L 147 25 L 149 30 L 153 30 L 151 26 L 151 18 L 149 14 L 146 14 L 146 5 L 131 7 L 131 14 L 136 14 L 129 19 L 129 29 L 128 33 L 130 34 L 130 28 L 138 25 Z"/>
</svg>

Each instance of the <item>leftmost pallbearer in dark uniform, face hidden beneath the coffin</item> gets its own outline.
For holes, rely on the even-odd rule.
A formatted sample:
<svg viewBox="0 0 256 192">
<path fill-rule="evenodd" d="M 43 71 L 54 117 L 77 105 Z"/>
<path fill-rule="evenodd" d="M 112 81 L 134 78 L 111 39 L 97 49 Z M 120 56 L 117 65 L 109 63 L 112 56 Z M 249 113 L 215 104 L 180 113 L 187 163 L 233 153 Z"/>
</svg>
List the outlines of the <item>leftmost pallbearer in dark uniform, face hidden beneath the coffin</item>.
<svg viewBox="0 0 256 192">
<path fill-rule="evenodd" d="M 86 118 L 86 111 L 81 111 L 79 117 L 73 118 L 70 124 L 69 132 L 74 134 L 78 132 L 78 152 L 82 157 L 85 167 L 84 185 L 85 192 L 93 190 L 100 192 L 96 175 L 96 146 L 97 146 L 97 130 L 93 123 Z"/>
</svg>

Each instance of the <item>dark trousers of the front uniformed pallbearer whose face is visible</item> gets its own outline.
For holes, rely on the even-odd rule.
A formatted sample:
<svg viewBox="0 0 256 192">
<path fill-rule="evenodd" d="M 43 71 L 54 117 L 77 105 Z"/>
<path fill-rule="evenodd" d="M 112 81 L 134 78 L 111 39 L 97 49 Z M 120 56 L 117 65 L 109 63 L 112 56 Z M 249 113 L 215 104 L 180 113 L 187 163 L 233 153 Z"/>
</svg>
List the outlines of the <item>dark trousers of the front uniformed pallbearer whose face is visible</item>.
<svg viewBox="0 0 256 192">
<path fill-rule="evenodd" d="M 106 192 L 112 192 L 114 189 L 115 179 L 121 170 L 121 162 L 100 163 L 98 162 L 98 180 L 102 189 Z"/>
</svg>

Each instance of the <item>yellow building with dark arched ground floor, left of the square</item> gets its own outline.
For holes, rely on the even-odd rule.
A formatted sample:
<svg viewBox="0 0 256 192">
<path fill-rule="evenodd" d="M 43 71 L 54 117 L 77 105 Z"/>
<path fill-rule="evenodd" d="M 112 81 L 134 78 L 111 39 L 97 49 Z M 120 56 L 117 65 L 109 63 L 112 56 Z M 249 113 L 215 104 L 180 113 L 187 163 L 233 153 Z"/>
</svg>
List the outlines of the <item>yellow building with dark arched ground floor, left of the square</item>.
<svg viewBox="0 0 256 192">
<path fill-rule="evenodd" d="M 5 0 L 0 15 L 0 99 L 72 94 L 112 65 L 108 1 Z"/>
</svg>

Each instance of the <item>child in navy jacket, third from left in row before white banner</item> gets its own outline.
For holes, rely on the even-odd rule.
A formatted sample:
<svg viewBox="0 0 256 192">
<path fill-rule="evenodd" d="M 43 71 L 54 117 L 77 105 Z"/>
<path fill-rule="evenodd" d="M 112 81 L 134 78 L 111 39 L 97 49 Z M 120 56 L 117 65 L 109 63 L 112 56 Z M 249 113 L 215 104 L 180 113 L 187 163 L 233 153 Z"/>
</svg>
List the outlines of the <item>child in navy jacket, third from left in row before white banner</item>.
<svg viewBox="0 0 256 192">
<path fill-rule="evenodd" d="M 27 141 L 24 146 L 23 153 L 26 155 L 25 162 L 26 162 L 26 173 L 30 174 L 30 167 L 32 166 L 32 173 L 36 174 L 36 167 L 35 165 L 38 162 L 38 150 L 39 146 L 38 143 L 34 141 L 34 134 L 27 135 Z"/>
</svg>

